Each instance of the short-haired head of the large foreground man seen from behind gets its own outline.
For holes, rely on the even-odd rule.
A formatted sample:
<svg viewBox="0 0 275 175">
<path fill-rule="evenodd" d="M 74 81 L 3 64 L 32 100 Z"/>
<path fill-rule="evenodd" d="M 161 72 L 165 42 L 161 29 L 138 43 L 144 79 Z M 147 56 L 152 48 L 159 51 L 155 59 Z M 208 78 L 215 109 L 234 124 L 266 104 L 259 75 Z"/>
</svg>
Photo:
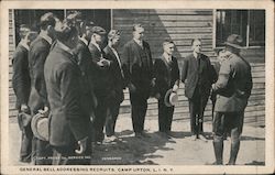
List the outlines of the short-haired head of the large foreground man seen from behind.
<svg viewBox="0 0 275 175">
<path fill-rule="evenodd" d="M 66 20 L 64 22 L 57 23 L 55 31 L 56 39 L 61 42 L 66 42 L 78 34 L 77 28 L 72 23 L 67 22 Z"/>
</svg>

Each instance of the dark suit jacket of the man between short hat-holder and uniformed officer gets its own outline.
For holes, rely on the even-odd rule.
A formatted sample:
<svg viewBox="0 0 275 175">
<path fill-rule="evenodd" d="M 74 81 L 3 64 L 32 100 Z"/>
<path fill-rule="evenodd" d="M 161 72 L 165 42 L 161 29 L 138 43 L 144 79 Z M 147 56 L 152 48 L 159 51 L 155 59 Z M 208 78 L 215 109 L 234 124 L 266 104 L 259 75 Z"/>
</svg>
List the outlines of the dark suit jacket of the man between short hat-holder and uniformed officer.
<svg viewBox="0 0 275 175">
<path fill-rule="evenodd" d="M 184 59 L 182 81 L 185 84 L 185 96 L 189 99 L 193 98 L 196 87 L 200 89 L 204 98 L 208 98 L 211 84 L 215 83 L 216 73 L 209 58 L 204 54 L 199 54 L 198 59 L 199 64 L 194 54 Z"/>
</svg>

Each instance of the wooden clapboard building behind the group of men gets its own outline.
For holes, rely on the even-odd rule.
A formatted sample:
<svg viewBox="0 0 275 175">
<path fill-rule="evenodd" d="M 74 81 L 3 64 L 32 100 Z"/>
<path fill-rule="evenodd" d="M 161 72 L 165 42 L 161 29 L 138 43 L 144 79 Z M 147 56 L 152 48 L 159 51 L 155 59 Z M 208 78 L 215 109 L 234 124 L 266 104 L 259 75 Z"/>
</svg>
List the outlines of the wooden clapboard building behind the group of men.
<svg viewBox="0 0 275 175">
<path fill-rule="evenodd" d="M 10 10 L 10 117 L 14 117 L 15 97 L 11 87 L 11 56 L 18 43 L 15 26 L 29 24 L 36 28 L 38 18 L 52 11 L 63 19 L 72 10 Z M 216 62 L 216 50 L 223 47 L 227 36 L 237 33 L 243 36 L 242 56 L 252 65 L 253 90 L 245 110 L 245 122 L 252 125 L 265 125 L 265 11 L 264 10 L 183 10 L 183 9 L 114 9 L 79 10 L 84 19 L 94 21 L 107 31 L 118 29 L 122 33 L 121 45 L 132 37 L 132 25 L 142 23 L 145 39 L 151 45 L 153 58 L 162 54 L 162 43 L 170 39 L 176 44 L 175 56 L 182 67 L 183 58 L 190 54 L 191 39 L 202 40 L 202 52 Z M 33 25 L 34 24 L 34 25 Z M 184 97 L 180 84 L 179 102 L 176 106 L 174 120 L 189 120 L 188 101 Z M 157 101 L 150 99 L 147 118 L 157 117 Z M 122 103 L 120 116 L 130 113 L 129 94 Z M 206 109 L 206 120 L 211 119 L 211 101 Z"/>
</svg>

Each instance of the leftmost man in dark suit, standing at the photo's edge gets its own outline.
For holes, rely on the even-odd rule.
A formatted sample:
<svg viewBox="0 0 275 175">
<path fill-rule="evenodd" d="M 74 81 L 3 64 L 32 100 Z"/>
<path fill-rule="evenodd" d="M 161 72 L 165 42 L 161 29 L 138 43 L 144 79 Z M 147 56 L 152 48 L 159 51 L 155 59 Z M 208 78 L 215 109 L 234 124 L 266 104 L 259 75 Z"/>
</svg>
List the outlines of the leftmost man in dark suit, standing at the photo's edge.
<svg viewBox="0 0 275 175">
<path fill-rule="evenodd" d="M 19 113 L 24 112 L 31 114 L 30 107 L 28 106 L 31 92 L 31 77 L 29 69 L 29 51 L 31 42 L 37 36 L 37 32 L 31 31 L 28 26 L 21 25 L 19 29 L 21 41 L 13 53 L 12 58 L 12 87 L 16 96 L 16 109 Z M 32 155 L 32 139 L 33 133 L 31 129 L 31 120 L 18 116 L 19 125 L 22 131 L 21 147 L 20 147 L 20 162 L 31 162 Z M 25 121 L 23 121 L 25 120 Z M 26 123 L 26 124 L 24 124 Z"/>
</svg>

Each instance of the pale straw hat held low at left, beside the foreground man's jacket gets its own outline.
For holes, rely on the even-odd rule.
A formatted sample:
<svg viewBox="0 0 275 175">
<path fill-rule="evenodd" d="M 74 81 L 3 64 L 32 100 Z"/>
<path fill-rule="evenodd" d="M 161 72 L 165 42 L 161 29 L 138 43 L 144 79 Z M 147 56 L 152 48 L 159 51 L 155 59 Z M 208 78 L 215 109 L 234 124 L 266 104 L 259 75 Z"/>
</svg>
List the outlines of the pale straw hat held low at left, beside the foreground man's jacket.
<svg viewBox="0 0 275 175">
<path fill-rule="evenodd" d="M 43 113 L 37 113 L 32 119 L 33 134 L 42 141 L 48 141 L 48 118 Z"/>
</svg>

